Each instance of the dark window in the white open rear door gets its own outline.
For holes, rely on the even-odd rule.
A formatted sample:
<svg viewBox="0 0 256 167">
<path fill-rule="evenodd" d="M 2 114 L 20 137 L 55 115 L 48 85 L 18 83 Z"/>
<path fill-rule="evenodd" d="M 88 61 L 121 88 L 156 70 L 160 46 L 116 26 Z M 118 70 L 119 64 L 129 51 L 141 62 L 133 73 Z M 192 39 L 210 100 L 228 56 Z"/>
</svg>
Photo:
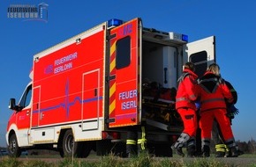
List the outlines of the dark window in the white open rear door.
<svg viewBox="0 0 256 167">
<path fill-rule="evenodd" d="M 200 77 L 207 70 L 207 51 L 201 51 L 190 55 L 190 62 L 195 64 L 195 73 Z"/>
</svg>

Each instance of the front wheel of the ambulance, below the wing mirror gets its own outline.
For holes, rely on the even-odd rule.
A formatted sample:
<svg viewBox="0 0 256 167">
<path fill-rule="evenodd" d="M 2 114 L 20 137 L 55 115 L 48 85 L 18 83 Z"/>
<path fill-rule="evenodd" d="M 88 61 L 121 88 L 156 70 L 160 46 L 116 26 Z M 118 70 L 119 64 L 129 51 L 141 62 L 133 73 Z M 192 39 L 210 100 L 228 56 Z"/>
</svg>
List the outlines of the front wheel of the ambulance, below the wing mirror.
<svg viewBox="0 0 256 167">
<path fill-rule="evenodd" d="M 16 134 L 11 134 L 9 138 L 8 152 L 11 157 L 19 157 L 21 155 L 21 149 L 19 148 Z"/>
</svg>

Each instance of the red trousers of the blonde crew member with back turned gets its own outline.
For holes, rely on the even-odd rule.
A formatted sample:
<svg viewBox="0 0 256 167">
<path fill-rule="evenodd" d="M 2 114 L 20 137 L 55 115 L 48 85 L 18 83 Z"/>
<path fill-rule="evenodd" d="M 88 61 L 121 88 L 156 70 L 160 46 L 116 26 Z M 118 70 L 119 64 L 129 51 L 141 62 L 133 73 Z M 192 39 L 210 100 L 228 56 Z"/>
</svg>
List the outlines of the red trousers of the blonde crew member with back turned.
<svg viewBox="0 0 256 167">
<path fill-rule="evenodd" d="M 226 109 L 211 109 L 200 113 L 201 138 L 211 139 L 214 119 L 217 120 L 222 130 L 225 141 L 233 139 L 233 133 L 230 126 L 230 119 L 226 116 Z"/>
</svg>

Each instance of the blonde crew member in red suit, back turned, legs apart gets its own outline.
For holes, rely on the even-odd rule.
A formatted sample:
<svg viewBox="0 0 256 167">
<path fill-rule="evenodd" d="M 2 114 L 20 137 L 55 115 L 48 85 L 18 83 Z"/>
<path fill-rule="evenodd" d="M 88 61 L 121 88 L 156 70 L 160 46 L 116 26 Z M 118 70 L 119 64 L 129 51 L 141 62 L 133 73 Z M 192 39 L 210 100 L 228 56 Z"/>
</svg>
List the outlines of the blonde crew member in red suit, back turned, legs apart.
<svg viewBox="0 0 256 167">
<path fill-rule="evenodd" d="M 213 122 L 216 120 L 221 128 L 225 144 L 230 148 L 232 156 L 237 156 L 236 142 L 227 117 L 227 105 L 233 102 L 229 87 L 220 76 L 220 68 L 211 64 L 204 76 L 200 78 L 200 128 L 202 140 L 202 156 L 210 156 L 210 140 Z M 226 100 L 226 101 L 225 101 Z"/>
</svg>

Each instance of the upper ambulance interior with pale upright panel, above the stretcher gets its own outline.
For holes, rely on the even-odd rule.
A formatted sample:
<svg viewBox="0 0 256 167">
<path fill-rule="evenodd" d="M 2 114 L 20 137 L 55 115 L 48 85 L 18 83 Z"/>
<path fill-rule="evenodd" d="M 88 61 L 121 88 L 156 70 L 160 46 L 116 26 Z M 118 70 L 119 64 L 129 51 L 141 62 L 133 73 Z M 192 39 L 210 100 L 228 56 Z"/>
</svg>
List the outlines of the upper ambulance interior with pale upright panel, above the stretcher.
<svg viewBox="0 0 256 167">
<path fill-rule="evenodd" d="M 142 46 L 142 81 L 177 87 L 177 49 L 148 41 Z"/>
</svg>

